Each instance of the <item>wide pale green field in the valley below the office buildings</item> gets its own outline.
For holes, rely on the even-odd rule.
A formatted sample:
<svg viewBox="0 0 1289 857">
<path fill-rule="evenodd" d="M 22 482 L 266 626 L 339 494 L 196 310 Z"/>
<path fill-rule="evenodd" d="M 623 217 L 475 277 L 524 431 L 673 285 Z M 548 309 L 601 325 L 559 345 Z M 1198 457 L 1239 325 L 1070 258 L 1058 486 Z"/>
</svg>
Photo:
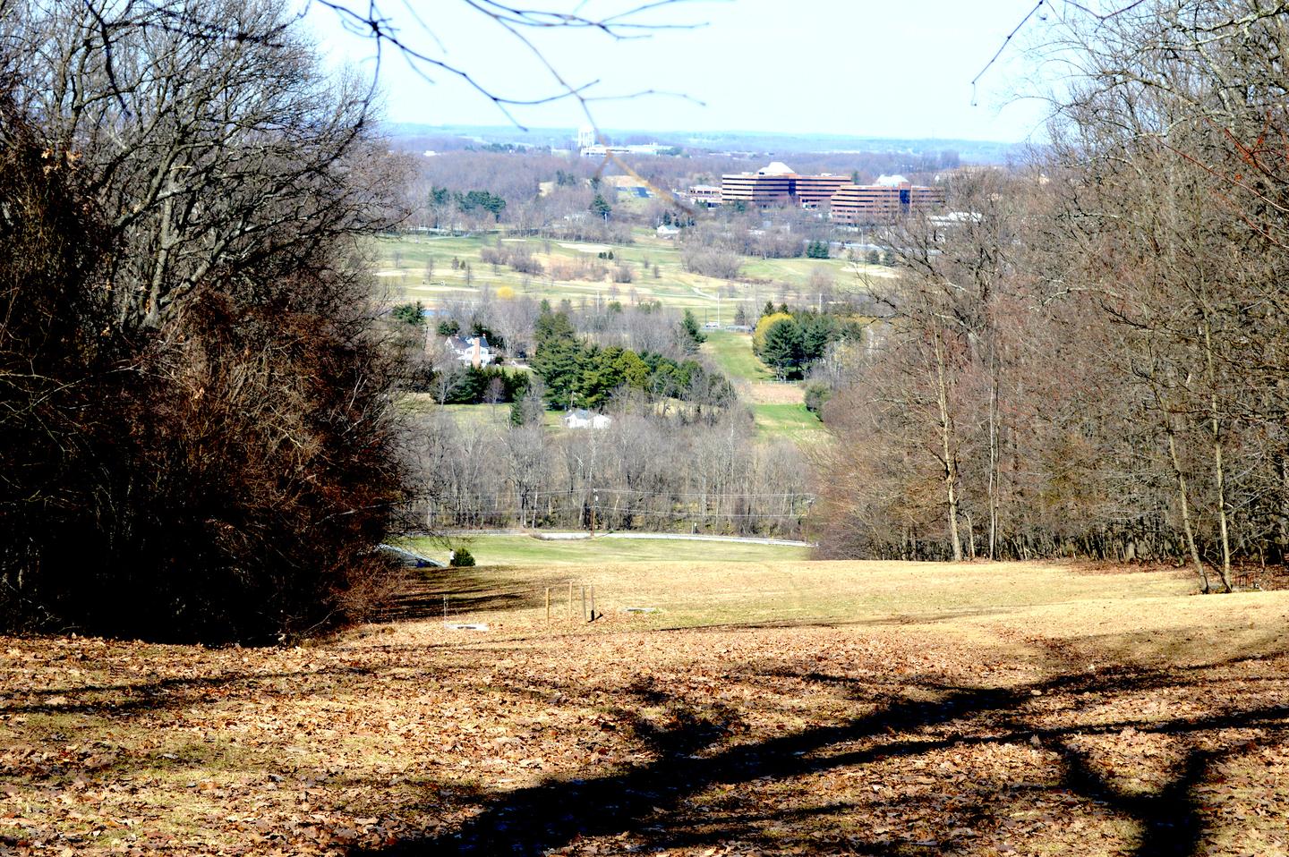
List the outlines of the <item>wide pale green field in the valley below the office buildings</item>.
<svg viewBox="0 0 1289 857">
<path fill-rule="evenodd" d="M 866 290 L 860 272 L 843 259 L 759 259 L 744 262 L 744 276 L 763 282 L 727 282 L 684 271 L 681 253 L 674 241 L 657 238 L 648 229 L 637 229 L 629 245 L 599 245 L 575 241 L 547 241 L 534 237 L 503 238 L 510 244 L 530 247 L 545 271 L 550 263 L 594 256 L 612 251 L 614 260 L 630 263 L 635 277 L 629 284 L 592 282 L 585 280 L 553 280 L 548 276 L 530 276 L 480 260 L 485 242 L 495 244 L 496 235 L 441 236 L 405 235 L 375 240 L 376 274 L 379 285 L 388 290 L 392 300 L 420 300 L 434 307 L 443 300 L 460 300 L 476 295 L 481 289 L 494 291 L 507 286 L 517 295 L 558 302 L 568 299 L 574 304 L 583 300 L 659 300 L 668 307 L 693 309 L 700 322 L 733 320 L 735 304 L 746 302 L 761 307 L 766 300 L 809 303 L 811 272 L 821 268 L 831 273 L 840 291 Z M 433 259 L 433 272 L 427 276 L 427 259 Z M 454 269 L 452 259 L 470 263 L 470 281 L 464 268 Z M 648 269 L 644 265 L 648 263 Z M 657 276 L 652 267 L 657 265 Z M 879 271 L 873 268 L 873 271 Z M 887 271 L 882 268 L 880 271 Z M 719 300 L 718 300 L 719 294 Z M 718 318 L 719 311 L 719 318 Z"/>
</svg>

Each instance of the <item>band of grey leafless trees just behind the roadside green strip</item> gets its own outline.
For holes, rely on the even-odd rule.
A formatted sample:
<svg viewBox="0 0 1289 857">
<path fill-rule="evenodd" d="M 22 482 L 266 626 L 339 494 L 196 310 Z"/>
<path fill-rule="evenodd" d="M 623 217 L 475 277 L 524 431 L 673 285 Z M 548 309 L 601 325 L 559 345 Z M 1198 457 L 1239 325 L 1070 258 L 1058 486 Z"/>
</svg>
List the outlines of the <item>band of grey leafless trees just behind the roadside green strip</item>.
<svg viewBox="0 0 1289 857">
<path fill-rule="evenodd" d="M 786 441 L 763 443 L 745 411 L 663 415 L 623 396 L 603 429 L 412 418 L 427 530 L 550 527 L 800 537 L 811 470 Z"/>
</svg>

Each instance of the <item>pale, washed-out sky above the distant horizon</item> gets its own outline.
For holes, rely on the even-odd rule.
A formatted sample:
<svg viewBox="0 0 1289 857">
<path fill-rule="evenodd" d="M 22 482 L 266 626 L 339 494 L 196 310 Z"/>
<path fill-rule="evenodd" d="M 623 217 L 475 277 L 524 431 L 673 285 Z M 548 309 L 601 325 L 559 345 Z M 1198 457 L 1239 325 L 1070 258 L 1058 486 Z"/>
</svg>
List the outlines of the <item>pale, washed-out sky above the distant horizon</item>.
<svg viewBox="0 0 1289 857">
<path fill-rule="evenodd" d="M 463 0 L 387 0 L 401 37 L 467 71 L 490 91 L 534 99 L 559 91 L 528 48 Z M 365 5 L 365 4 L 363 4 Z M 527 0 L 525 5 L 598 17 L 638 3 Z M 424 27 L 407 12 L 418 10 Z M 1044 107 L 1016 93 L 1032 70 L 1018 49 L 971 80 L 1034 8 L 1034 0 L 688 0 L 641 22 L 704 24 L 615 41 L 581 30 L 525 31 L 572 85 L 590 93 L 683 93 L 593 104 L 605 128 L 758 130 L 864 137 L 967 138 L 1018 142 L 1042 133 Z M 334 13 L 311 21 L 335 62 L 370 71 L 370 40 L 347 36 Z M 1035 15 L 1029 28 L 1042 27 Z M 380 81 L 388 119 L 425 124 L 504 125 L 482 94 L 445 71 L 427 82 L 393 54 Z M 531 126 L 585 122 L 574 102 L 514 108 Z"/>
</svg>

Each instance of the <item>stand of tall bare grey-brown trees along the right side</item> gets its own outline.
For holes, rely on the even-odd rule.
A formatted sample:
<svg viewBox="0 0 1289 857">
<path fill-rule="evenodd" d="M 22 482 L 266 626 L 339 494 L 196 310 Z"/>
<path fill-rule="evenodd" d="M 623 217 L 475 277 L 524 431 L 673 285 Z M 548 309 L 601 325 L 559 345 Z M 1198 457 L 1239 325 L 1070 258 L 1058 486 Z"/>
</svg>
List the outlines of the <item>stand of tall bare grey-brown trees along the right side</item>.
<svg viewBox="0 0 1289 857">
<path fill-rule="evenodd" d="M 1071 4 L 1051 149 L 889 236 L 830 549 L 1170 558 L 1205 590 L 1285 561 L 1285 13 Z"/>
</svg>

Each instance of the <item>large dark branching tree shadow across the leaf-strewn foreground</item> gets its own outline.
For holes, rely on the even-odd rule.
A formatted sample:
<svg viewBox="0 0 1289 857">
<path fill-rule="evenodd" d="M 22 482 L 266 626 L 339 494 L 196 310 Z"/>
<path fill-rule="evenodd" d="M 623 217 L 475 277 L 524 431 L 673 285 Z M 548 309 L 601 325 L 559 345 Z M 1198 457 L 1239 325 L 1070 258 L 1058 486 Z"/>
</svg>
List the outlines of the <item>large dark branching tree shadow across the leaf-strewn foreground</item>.
<svg viewBox="0 0 1289 857">
<path fill-rule="evenodd" d="M 825 674 L 802 674 L 802 680 L 834 684 Z M 1185 677 L 1183 677 L 1185 678 Z M 637 722 L 635 735 L 656 760 L 585 780 L 552 780 L 491 800 L 459 827 L 432 838 L 402 842 L 378 851 L 354 851 L 351 857 L 410 857 L 414 854 L 521 854 L 538 857 L 566 847 L 576 848 L 585 838 L 641 839 L 639 848 L 668 849 L 706 844 L 762 848 L 790 847 L 791 853 L 933 854 L 953 853 L 964 840 L 909 840 L 898 836 L 861 839 L 840 833 L 798 831 L 798 838 L 767 839 L 764 823 L 789 823 L 806 818 L 856 812 L 852 804 L 825 804 L 784 812 L 710 812 L 696 808 L 695 798 L 713 786 L 746 786 L 758 794 L 795 777 L 855 769 L 884 759 L 924 756 L 955 746 L 1025 745 L 1056 753 L 1056 781 L 1043 784 L 987 784 L 960 787 L 958 799 L 969 805 L 963 813 L 984 827 L 998 827 L 1013 800 L 1038 790 L 1044 800 L 1097 805 L 1137 829 L 1136 857 L 1186 857 L 1199 853 L 1205 827 L 1196 787 L 1213 766 L 1248 747 L 1248 738 L 1225 749 L 1190 749 L 1174 766 L 1170 780 L 1155 793 L 1124 791 L 1098 773 L 1085 753 L 1074 746 L 1076 736 L 1114 735 L 1125 728 L 1143 733 L 1203 736 L 1223 729 L 1261 729 L 1274 741 L 1289 731 L 1289 706 L 1268 706 L 1241 713 L 1213 714 L 1192 719 L 1094 722 L 1069 727 L 1044 727 L 1031 717 L 1035 698 L 1063 695 L 1071 701 L 1089 696 L 1120 695 L 1177 686 L 1176 673 L 1078 674 L 1012 688 L 944 687 L 935 701 L 888 698 L 873 713 L 838 726 L 806 728 L 777 738 L 728 745 L 719 717 L 678 709 L 666 727 Z M 660 701 L 652 686 L 633 688 L 639 702 Z M 949 728 L 942 737 L 936 728 Z M 984 727 L 984 728 L 982 728 Z M 976 735 L 971 735 L 974 732 Z M 953 786 L 950 786 L 953 787 Z M 893 798 L 887 814 L 907 809 L 922 798 Z M 739 800 L 735 799 L 735 803 Z M 721 809 L 710 807 L 709 809 Z M 962 813 L 960 813 L 962 814 Z M 974 835 L 974 834 L 972 834 Z M 597 853 L 606 853 L 603 851 Z M 726 852 L 722 852 L 726 853 Z"/>
</svg>

